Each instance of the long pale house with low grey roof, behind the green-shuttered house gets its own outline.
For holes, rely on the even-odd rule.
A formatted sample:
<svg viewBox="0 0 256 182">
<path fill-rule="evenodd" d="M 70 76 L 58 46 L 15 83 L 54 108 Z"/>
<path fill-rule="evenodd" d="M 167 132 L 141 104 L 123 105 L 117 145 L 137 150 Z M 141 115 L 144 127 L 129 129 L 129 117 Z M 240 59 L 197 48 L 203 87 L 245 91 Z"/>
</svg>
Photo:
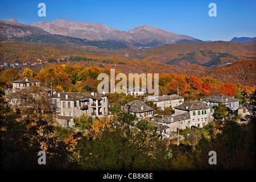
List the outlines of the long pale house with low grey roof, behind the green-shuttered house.
<svg viewBox="0 0 256 182">
<path fill-rule="evenodd" d="M 172 106 L 172 108 L 174 108 L 183 104 L 184 98 L 173 94 L 168 96 L 148 96 L 144 98 L 144 101 L 153 102 L 153 104 L 156 104 L 157 107 L 164 110 L 166 107 Z"/>
</svg>

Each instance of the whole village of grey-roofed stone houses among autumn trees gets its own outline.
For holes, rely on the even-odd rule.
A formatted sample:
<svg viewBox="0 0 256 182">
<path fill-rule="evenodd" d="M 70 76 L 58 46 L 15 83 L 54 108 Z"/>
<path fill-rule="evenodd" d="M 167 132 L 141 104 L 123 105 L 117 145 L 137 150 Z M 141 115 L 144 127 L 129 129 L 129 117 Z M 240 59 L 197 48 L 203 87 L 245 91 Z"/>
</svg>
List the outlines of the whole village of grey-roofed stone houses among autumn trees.
<svg viewBox="0 0 256 182">
<path fill-rule="evenodd" d="M 106 117 L 111 115 L 109 111 L 108 93 L 96 92 L 56 92 L 50 88 L 40 86 L 40 81 L 30 77 L 22 77 L 12 82 L 13 88 L 6 90 L 6 100 L 11 106 L 19 104 L 15 93 L 22 92 L 23 89 L 30 89 L 38 86 L 46 92 L 50 101 L 55 105 L 56 121 L 63 127 L 75 127 L 73 118 L 87 114 L 93 118 Z M 177 94 L 167 96 L 147 96 L 145 90 L 141 88 L 130 88 L 131 96 L 145 96 L 144 100 L 134 100 L 121 107 L 125 112 L 136 114 L 139 120 L 145 119 L 153 126 L 163 138 L 170 138 L 177 130 L 192 127 L 203 127 L 214 118 L 214 107 L 220 103 L 225 104 L 233 111 L 237 111 L 242 116 L 241 122 L 246 122 L 246 115 L 249 114 L 246 107 L 240 105 L 240 100 L 226 96 L 224 94 L 213 94 L 200 101 L 184 102 L 184 98 Z M 172 107 L 174 114 L 166 117 L 159 117 L 154 114 L 154 109 L 145 102 L 155 104 L 160 110 Z"/>
</svg>

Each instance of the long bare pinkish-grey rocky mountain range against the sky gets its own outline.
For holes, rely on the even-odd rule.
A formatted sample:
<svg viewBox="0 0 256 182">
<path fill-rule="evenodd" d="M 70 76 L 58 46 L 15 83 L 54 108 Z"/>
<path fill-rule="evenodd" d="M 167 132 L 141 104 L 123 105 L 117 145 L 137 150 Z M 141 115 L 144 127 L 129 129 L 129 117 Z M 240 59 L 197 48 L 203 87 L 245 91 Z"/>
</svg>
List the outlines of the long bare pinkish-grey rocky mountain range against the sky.
<svg viewBox="0 0 256 182">
<path fill-rule="evenodd" d="M 128 31 L 110 28 L 101 23 L 75 22 L 55 19 L 53 22 L 36 22 L 32 26 L 42 28 L 50 34 L 72 36 L 88 40 L 122 42 L 130 46 L 156 47 L 182 42 L 203 42 L 187 35 L 179 35 L 150 25 L 135 27 Z"/>
</svg>

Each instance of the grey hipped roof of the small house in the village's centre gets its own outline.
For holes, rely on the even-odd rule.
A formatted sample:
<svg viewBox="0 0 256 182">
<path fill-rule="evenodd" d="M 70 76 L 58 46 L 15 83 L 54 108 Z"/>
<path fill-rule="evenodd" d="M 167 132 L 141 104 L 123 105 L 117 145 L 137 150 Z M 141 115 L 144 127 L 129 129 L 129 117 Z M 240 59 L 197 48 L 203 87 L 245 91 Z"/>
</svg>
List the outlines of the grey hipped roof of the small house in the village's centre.
<svg viewBox="0 0 256 182">
<path fill-rule="evenodd" d="M 148 106 L 141 100 L 131 101 L 122 106 L 124 111 L 130 111 L 132 113 L 144 113 L 147 111 L 154 110 L 152 107 Z"/>
</svg>

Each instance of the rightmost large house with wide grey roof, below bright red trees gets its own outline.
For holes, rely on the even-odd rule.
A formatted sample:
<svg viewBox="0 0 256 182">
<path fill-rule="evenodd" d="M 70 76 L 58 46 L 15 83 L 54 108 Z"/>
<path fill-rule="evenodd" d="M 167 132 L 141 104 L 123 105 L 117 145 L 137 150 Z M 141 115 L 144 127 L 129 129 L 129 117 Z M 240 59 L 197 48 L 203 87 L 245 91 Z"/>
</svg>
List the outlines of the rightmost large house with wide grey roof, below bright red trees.
<svg viewBox="0 0 256 182">
<path fill-rule="evenodd" d="M 209 97 L 201 98 L 200 101 L 204 102 L 208 106 L 215 106 L 219 103 L 222 103 L 232 110 L 237 110 L 240 100 L 238 100 L 237 98 L 226 96 L 224 94 L 213 94 Z"/>
</svg>

